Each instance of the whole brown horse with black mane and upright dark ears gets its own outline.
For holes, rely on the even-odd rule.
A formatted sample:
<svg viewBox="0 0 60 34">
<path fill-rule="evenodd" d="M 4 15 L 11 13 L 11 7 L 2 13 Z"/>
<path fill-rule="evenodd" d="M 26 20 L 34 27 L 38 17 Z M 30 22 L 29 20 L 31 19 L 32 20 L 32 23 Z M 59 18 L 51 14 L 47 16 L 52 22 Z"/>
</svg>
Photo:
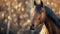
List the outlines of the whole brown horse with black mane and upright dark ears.
<svg viewBox="0 0 60 34">
<path fill-rule="evenodd" d="M 39 30 L 37 29 L 35 31 L 35 28 L 44 23 L 49 34 L 60 34 L 60 19 L 52 12 L 52 10 L 47 6 L 44 6 L 42 1 L 40 4 L 37 4 L 34 1 L 34 5 L 36 6 L 36 13 L 32 19 L 30 30 L 33 30 L 34 34 L 39 34 L 39 31 L 35 33 Z"/>
</svg>

